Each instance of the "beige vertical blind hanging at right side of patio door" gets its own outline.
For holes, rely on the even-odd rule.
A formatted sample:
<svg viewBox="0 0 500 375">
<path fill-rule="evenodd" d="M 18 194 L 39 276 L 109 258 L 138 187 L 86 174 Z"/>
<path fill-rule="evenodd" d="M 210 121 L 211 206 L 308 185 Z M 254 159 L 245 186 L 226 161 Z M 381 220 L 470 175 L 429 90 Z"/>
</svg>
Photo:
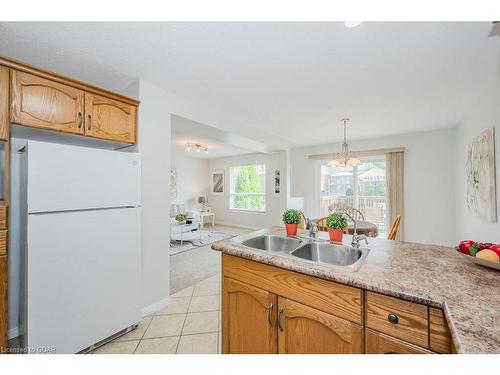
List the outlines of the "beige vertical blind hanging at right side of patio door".
<svg viewBox="0 0 500 375">
<path fill-rule="evenodd" d="M 396 240 L 404 240 L 404 152 L 388 152 L 386 154 L 386 178 L 389 226 L 401 215 Z"/>
</svg>

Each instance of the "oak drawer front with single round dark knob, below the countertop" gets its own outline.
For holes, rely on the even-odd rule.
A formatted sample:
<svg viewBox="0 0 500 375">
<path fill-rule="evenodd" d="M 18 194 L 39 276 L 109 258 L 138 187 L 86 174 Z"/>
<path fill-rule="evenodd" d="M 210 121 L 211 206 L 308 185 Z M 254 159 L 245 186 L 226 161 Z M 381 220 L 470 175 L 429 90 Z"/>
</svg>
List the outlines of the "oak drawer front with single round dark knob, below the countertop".
<svg viewBox="0 0 500 375">
<path fill-rule="evenodd" d="M 425 305 L 367 292 L 366 326 L 421 347 L 429 347 Z"/>
</svg>

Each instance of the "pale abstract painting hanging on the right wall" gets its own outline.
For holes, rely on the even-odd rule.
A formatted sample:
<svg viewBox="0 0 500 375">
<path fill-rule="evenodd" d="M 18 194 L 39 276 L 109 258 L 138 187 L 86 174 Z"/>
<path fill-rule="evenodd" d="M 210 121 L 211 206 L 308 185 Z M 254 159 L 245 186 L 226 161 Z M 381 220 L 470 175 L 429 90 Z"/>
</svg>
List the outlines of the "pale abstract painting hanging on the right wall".
<svg viewBox="0 0 500 375">
<path fill-rule="evenodd" d="M 497 221 L 495 183 L 495 131 L 490 128 L 474 138 L 467 150 L 467 206 L 474 215 Z"/>
</svg>

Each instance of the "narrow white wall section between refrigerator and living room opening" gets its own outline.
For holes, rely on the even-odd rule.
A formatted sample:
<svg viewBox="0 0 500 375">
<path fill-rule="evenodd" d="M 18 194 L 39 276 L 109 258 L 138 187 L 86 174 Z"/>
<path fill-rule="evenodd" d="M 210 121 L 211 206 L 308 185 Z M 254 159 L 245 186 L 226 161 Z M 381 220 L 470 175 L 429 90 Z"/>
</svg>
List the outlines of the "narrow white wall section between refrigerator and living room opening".
<svg viewBox="0 0 500 375">
<path fill-rule="evenodd" d="M 169 95 L 153 84 L 138 84 L 138 149 L 142 162 L 143 313 L 170 295 L 170 132 Z"/>
</svg>

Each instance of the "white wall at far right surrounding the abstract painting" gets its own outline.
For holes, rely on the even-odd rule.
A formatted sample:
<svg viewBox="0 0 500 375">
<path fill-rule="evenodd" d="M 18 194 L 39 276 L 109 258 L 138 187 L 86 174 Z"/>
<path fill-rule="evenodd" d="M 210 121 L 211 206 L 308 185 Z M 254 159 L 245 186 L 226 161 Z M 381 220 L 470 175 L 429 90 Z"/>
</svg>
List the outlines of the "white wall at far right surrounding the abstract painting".
<svg viewBox="0 0 500 375">
<path fill-rule="evenodd" d="M 496 198 L 497 217 L 500 219 L 500 74 L 491 85 L 484 90 L 477 103 L 467 111 L 464 120 L 457 129 L 456 147 L 456 206 L 457 237 L 456 240 L 472 239 L 476 241 L 500 242 L 500 222 L 490 223 L 482 220 L 467 208 L 467 177 L 465 163 L 467 147 L 473 138 L 483 130 L 495 127 L 496 150 Z"/>
</svg>

